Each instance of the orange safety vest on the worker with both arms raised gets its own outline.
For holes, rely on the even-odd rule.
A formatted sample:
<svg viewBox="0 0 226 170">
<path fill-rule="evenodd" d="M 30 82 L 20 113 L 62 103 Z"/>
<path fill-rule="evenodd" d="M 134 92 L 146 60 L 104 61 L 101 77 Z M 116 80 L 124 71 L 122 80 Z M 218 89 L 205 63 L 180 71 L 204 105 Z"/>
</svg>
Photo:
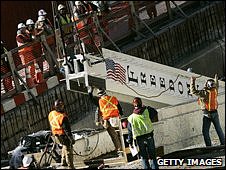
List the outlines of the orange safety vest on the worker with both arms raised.
<svg viewBox="0 0 226 170">
<path fill-rule="evenodd" d="M 208 111 L 217 110 L 218 108 L 218 102 L 217 102 L 217 89 L 211 89 L 208 91 L 208 99 L 205 101 L 205 108 Z"/>
</svg>

